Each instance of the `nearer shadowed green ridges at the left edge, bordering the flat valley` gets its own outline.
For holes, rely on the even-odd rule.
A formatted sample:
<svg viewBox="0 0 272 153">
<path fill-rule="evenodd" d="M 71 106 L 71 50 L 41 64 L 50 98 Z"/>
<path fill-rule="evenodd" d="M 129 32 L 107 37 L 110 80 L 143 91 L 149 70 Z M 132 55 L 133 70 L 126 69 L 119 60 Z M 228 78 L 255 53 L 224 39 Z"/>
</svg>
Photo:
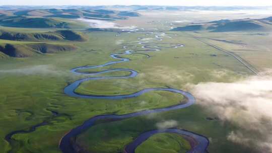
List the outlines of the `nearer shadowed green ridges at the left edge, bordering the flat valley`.
<svg viewBox="0 0 272 153">
<path fill-rule="evenodd" d="M 35 54 L 72 51 L 77 47 L 64 42 L 85 40 L 83 34 L 70 30 L 36 33 L 0 30 L 0 56 L 30 57 Z"/>
</svg>

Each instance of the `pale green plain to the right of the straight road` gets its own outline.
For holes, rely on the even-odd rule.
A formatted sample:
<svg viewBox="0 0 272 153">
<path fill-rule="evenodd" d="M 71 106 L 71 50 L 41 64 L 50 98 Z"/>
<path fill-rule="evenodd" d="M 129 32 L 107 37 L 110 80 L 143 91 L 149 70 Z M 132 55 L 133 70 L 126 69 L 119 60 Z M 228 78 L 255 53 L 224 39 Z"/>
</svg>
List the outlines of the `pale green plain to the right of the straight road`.
<svg viewBox="0 0 272 153">
<path fill-rule="evenodd" d="M 201 31 L 193 35 L 235 53 L 259 71 L 271 68 L 271 31 L 224 33 Z"/>
</svg>

